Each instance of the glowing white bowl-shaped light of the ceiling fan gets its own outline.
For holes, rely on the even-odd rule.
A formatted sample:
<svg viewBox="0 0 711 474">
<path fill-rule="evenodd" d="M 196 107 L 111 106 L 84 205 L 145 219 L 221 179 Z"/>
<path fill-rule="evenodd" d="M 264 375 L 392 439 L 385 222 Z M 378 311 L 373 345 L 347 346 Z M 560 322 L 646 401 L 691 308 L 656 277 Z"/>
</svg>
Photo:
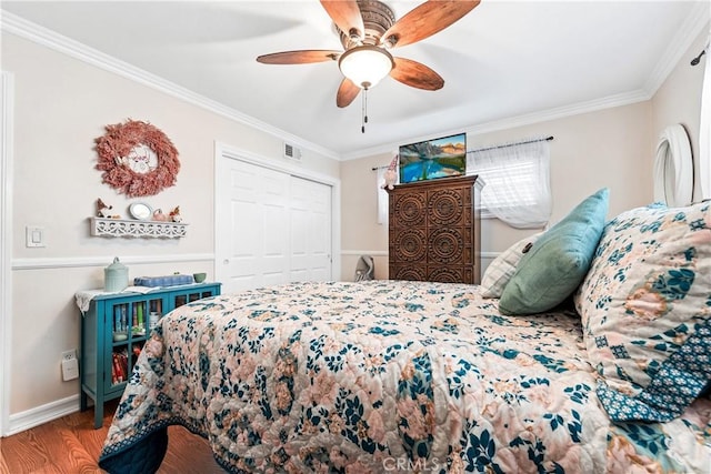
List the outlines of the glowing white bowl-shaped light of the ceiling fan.
<svg viewBox="0 0 711 474">
<path fill-rule="evenodd" d="M 361 89 L 370 89 L 388 75 L 395 63 L 382 48 L 363 44 L 341 54 L 338 67 L 348 79 Z"/>
</svg>

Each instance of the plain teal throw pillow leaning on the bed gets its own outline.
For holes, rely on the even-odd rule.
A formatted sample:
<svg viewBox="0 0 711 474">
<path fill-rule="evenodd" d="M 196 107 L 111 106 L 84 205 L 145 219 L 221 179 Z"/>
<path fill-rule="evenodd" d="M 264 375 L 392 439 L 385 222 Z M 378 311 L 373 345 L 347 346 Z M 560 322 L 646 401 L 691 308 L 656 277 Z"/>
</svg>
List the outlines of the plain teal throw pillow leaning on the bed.
<svg viewBox="0 0 711 474">
<path fill-rule="evenodd" d="M 503 314 L 533 314 L 565 301 L 585 278 L 602 235 L 610 190 L 587 198 L 541 235 L 503 289 Z"/>
</svg>

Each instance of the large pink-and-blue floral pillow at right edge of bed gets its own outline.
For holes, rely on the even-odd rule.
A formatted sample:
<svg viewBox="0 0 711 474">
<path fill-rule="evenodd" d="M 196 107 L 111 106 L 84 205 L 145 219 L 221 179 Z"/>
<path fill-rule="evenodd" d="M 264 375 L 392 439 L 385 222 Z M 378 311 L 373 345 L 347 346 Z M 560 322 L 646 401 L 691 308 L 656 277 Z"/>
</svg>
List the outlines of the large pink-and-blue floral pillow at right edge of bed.
<svg viewBox="0 0 711 474">
<path fill-rule="evenodd" d="M 669 373 L 660 369 L 670 356 L 698 339 L 711 320 L 711 202 L 653 204 L 610 221 L 574 300 L 590 362 L 605 387 L 642 394 L 654 377 Z M 710 354 L 689 361 L 711 366 Z M 662 385 L 680 386 L 688 379 Z M 668 395 L 660 395 L 660 406 L 677 403 Z"/>
</svg>

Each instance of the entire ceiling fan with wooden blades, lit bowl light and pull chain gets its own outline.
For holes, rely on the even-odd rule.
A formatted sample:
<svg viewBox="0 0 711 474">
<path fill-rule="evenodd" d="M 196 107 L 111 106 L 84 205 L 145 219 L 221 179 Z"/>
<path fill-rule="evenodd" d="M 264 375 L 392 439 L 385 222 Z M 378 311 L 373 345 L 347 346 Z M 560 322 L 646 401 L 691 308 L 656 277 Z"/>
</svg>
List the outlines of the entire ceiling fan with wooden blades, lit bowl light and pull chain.
<svg viewBox="0 0 711 474">
<path fill-rule="evenodd" d="M 390 7 L 378 0 L 321 0 L 340 34 L 343 51 L 283 51 L 260 56 L 257 61 L 264 64 L 338 61 L 344 75 L 336 97 L 338 107 L 348 107 L 361 90 L 367 91 L 388 74 L 413 88 L 438 90 L 444 85 L 440 74 L 420 62 L 393 57 L 389 50 L 431 37 L 469 13 L 479 2 L 430 0 L 395 21 Z M 363 112 L 363 122 L 367 121 Z"/>
</svg>

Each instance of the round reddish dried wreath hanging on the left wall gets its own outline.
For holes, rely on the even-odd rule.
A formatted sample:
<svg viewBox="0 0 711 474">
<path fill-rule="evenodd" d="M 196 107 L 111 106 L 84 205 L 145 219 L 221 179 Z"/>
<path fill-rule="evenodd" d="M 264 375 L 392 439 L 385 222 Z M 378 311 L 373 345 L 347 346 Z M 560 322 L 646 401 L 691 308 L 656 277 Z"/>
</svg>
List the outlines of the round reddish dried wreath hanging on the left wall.
<svg viewBox="0 0 711 474">
<path fill-rule="evenodd" d="M 106 127 L 94 140 L 103 182 L 129 198 L 154 195 L 176 184 L 178 150 L 166 134 L 147 122 L 128 120 Z"/>
</svg>

